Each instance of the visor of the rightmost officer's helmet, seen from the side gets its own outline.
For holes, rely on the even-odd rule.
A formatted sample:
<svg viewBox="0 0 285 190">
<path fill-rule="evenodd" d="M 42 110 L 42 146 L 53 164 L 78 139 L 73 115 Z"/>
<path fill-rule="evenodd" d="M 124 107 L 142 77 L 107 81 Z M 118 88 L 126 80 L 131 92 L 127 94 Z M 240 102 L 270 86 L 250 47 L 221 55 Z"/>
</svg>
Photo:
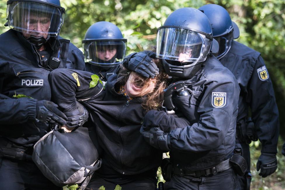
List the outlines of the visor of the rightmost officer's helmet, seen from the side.
<svg viewBox="0 0 285 190">
<path fill-rule="evenodd" d="M 215 39 L 219 43 L 219 52 L 215 53 L 214 56 L 216 56 L 217 59 L 221 59 L 227 54 L 232 46 L 233 32 L 224 36 L 215 37 Z"/>
</svg>

